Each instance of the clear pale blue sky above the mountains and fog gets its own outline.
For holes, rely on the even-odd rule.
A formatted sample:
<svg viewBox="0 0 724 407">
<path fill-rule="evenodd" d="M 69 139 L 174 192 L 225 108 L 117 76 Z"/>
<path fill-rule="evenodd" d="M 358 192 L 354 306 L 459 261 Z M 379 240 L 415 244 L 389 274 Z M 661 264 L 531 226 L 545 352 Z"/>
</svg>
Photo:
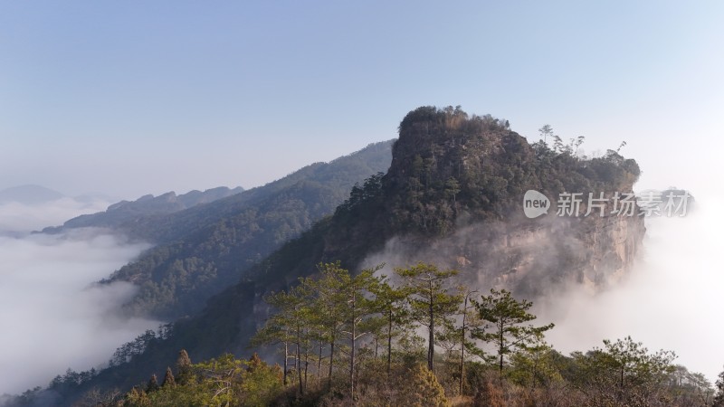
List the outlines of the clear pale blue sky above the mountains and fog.
<svg viewBox="0 0 724 407">
<path fill-rule="evenodd" d="M 625 140 L 652 187 L 718 163 L 721 2 L 392 3 L 0 2 L 0 188 L 262 185 L 421 105 Z"/>
</svg>

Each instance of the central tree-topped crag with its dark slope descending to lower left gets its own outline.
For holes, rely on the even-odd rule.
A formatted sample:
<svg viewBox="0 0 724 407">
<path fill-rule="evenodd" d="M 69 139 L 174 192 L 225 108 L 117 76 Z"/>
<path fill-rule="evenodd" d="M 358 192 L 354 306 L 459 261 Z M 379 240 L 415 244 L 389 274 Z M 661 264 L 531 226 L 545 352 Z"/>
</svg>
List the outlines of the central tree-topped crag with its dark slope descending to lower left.
<svg viewBox="0 0 724 407">
<path fill-rule="evenodd" d="M 271 312 L 264 295 L 313 274 L 320 261 L 341 260 L 352 270 L 380 261 L 435 261 L 457 267 L 481 289 L 510 288 L 529 298 L 561 285 L 600 289 L 629 269 L 643 219 L 558 218 L 552 211 L 528 219 L 523 194 L 629 192 L 638 175 L 636 163 L 615 152 L 582 159 L 543 143 L 529 145 L 490 116 L 415 109 L 400 124 L 386 175 L 357 185 L 333 216 L 245 271 L 242 282 L 209 300 L 201 313 L 177 321 L 170 336 L 150 341 L 145 352 L 78 391 L 138 383 L 173 364 L 180 348 L 195 359 L 247 354 L 250 337 Z"/>
</svg>

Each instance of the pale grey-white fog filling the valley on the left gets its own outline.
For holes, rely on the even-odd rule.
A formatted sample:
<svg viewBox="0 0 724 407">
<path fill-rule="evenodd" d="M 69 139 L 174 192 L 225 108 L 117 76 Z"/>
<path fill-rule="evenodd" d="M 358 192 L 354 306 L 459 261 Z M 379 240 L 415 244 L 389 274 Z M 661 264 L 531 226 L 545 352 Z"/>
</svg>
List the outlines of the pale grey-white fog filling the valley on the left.
<svg viewBox="0 0 724 407">
<path fill-rule="evenodd" d="M 30 233 L 106 206 L 67 197 L 0 204 L 0 394 L 45 386 L 68 368 L 99 367 L 116 347 L 158 326 L 118 316 L 134 293 L 129 283 L 93 284 L 148 245 L 93 229 Z"/>
</svg>

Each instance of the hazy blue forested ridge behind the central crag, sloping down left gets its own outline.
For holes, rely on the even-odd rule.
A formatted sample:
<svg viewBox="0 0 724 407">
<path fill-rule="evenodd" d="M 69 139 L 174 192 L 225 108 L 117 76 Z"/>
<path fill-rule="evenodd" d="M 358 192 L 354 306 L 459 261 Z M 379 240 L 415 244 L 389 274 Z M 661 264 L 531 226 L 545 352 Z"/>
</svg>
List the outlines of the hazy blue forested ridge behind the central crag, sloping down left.
<svg viewBox="0 0 724 407">
<path fill-rule="evenodd" d="M 243 270 L 332 213 L 353 185 L 384 171 L 391 146 L 376 143 L 211 204 L 126 223 L 122 230 L 163 243 L 106 281 L 139 286 L 126 305 L 133 315 L 165 320 L 192 315 L 237 282 Z"/>
</svg>

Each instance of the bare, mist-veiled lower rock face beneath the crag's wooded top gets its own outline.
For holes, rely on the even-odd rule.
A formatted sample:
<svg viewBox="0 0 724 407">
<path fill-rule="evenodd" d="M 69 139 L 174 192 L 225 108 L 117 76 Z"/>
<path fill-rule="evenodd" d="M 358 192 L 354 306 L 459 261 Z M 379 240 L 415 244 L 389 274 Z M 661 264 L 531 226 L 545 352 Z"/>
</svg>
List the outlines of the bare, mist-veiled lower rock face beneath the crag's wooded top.
<svg viewBox="0 0 724 407">
<path fill-rule="evenodd" d="M 472 287 L 510 289 L 531 299 L 572 286 L 600 291 L 631 270 L 644 232 L 639 216 L 477 222 L 441 239 L 397 236 L 364 267 L 384 262 L 390 274 L 394 267 L 433 262 L 460 270 Z"/>
</svg>

